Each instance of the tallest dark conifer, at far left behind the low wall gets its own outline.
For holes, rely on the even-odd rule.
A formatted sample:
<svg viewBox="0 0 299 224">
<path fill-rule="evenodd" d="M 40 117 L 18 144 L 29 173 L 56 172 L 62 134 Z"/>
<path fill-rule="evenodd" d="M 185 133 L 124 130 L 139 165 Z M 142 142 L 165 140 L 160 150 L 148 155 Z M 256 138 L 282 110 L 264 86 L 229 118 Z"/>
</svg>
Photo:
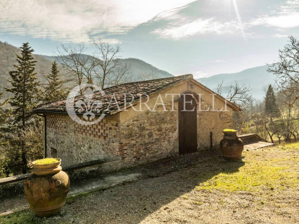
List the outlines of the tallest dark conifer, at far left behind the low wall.
<svg viewBox="0 0 299 224">
<path fill-rule="evenodd" d="M 32 53 L 33 49 L 29 46 L 29 43 L 23 43 L 21 48 L 21 56 L 16 55 L 18 65 L 13 65 L 16 70 L 10 71 L 12 87 L 6 90 L 14 94 L 14 97 L 9 99 L 10 106 L 13 107 L 13 121 L 11 122 L 13 127 L 12 131 L 20 133 L 25 131 L 26 125 L 32 121 L 32 108 L 35 107 L 39 101 L 40 90 L 39 82 L 34 72 L 34 61 Z M 27 172 L 27 156 L 25 151 L 25 142 L 19 142 L 21 148 L 21 165 L 22 172 Z"/>
</svg>

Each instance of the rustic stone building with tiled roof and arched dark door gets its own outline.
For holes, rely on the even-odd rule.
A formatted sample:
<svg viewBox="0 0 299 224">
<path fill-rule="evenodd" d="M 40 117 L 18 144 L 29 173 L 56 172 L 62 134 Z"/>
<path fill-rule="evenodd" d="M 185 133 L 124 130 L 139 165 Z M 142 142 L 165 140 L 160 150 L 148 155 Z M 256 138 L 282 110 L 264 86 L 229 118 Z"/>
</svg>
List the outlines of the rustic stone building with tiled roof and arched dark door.
<svg viewBox="0 0 299 224">
<path fill-rule="evenodd" d="M 219 147 L 222 130 L 231 128 L 233 111 L 240 111 L 192 75 L 126 83 L 104 92 L 74 98 L 75 105 L 86 98 L 101 102 L 90 111 L 95 115 L 92 121 L 105 116 L 90 125 L 71 118 L 66 100 L 34 109 L 45 117 L 46 157 L 72 165 L 120 156 L 118 168 L 124 168 L 210 150 Z M 74 109 L 73 115 L 85 120 L 84 109 Z"/>
</svg>

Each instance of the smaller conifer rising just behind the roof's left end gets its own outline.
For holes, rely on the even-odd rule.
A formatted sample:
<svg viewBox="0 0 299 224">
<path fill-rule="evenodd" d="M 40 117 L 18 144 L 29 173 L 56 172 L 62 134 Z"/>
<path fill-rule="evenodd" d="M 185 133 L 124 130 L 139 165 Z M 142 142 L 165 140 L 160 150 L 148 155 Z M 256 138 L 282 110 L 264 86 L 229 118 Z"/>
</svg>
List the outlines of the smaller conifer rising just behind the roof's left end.
<svg viewBox="0 0 299 224">
<path fill-rule="evenodd" d="M 44 76 L 44 78 L 48 82 L 44 87 L 44 102 L 57 101 L 66 97 L 66 91 L 62 88 L 63 80 L 60 80 L 59 70 L 55 61 L 52 63 L 51 73 Z"/>
</svg>

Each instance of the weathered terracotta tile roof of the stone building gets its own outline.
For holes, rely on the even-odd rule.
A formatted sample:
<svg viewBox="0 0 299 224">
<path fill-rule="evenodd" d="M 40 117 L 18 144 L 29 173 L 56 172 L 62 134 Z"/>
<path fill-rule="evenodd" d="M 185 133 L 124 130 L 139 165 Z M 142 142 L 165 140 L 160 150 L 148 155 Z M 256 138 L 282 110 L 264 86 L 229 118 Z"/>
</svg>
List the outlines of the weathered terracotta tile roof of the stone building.
<svg viewBox="0 0 299 224">
<path fill-rule="evenodd" d="M 102 113 L 113 114 L 118 110 L 118 106 L 119 108 L 125 106 L 124 93 L 132 94 L 134 96 L 135 101 L 137 101 L 140 99 L 140 97 L 145 97 L 143 94 L 152 95 L 154 93 L 160 92 L 161 90 L 176 85 L 179 82 L 191 78 L 193 78 L 192 75 L 182 75 L 182 76 L 173 76 L 173 77 L 162 78 L 162 79 L 152 79 L 152 80 L 141 81 L 141 82 L 125 83 L 125 84 L 120 84 L 109 88 L 105 88 L 104 95 L 102 95 L 100 91 L 96 91 L 91 96 L 91 100 L 100 101 L 102 105 L 98 107 L 96 107 L 96 105 L 93 105 L 91 112 L 94 114 L 102 114 Z M 115 102 L 114 99 L 112 99 L 113 94 L 117 99 L 117 103 Z M 76 96 L 74 99 L 74 103 L 80 100 L 85 101 L 86 95 Z M 131 102 L 131 100 L 132 98 L 129 95 L 127 95 L 126 104 L 129 105 L 129 102 Z M 56 102 L 41 104 L 36 108 L 34 108 L 33 112 L 34 113 L 46 113 L 46 112 L 67 113 L 65 102 L 66 100 L 60 100 Z M 109 109 L 107 109 L 108 106 Z M 84 111 L 75 108 L 75 112 L 79 114 L 82 112 L 84 113 L 86 111 L 84 107 L 83 110 Z"/>
</svg>

